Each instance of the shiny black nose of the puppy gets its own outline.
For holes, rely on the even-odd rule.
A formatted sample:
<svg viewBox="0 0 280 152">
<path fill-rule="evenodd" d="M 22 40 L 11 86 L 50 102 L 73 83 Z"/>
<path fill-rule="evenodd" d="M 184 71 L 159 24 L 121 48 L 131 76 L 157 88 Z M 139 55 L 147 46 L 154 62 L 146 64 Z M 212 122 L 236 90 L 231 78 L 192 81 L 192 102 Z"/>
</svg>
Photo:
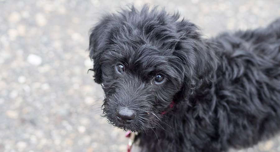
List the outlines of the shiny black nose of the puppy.
<svg viewBox="0 0 280 152">
<path fill-rule="evenodd" d="M 116 110 L 116 115 L 120 122 L 131 123 L 135 118 L 136 113 L 128 108 L 118 108 Z"/>
</svg>

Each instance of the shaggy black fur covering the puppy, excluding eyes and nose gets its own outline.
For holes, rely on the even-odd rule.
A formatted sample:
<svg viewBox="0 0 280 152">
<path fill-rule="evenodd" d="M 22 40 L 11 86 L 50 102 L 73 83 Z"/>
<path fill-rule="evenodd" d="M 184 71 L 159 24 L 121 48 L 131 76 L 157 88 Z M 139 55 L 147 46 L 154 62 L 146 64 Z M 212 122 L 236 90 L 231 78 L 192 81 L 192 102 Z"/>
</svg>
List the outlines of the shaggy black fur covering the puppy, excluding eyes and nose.
<svg viewBox="0 0 280 152">
<path fill-rule="evenodd" d="M 137 131 L 144 152 L 221 152 L 280 130 L 280 19 L 203 39 L 178 13 L 131 7 L 102 17 L 89 50 L 104 116 Z M 133 109 L 133 122 L 119 122 L 118 107 Z"/>
</svg>

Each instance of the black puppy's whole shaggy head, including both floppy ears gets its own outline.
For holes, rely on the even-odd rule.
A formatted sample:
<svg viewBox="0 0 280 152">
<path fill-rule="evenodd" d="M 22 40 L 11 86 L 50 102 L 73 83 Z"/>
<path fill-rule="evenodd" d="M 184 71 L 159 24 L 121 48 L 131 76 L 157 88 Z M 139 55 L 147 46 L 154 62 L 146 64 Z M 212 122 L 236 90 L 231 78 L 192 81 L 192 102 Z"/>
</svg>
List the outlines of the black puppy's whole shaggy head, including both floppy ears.
<svg viewBox="0 0 280 152">
<path fill-rule="evenodd" d="M 105 15 L 91 30 L 90 57 L 114 126 L 145 131 L 160 125 L 172 101 L 187 98 L 215 66 L 213 53 L 189 21 L 156 8 Z"/>
</svg>

